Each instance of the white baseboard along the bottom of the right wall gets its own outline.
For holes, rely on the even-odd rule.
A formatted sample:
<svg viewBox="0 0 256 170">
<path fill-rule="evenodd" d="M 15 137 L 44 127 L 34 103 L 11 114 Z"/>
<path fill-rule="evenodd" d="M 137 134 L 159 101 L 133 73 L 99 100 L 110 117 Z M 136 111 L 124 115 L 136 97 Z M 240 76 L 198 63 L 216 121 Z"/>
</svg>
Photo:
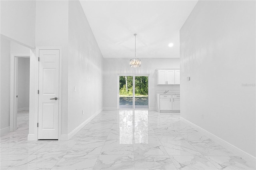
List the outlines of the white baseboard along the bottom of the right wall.
<svg viewBox="0 0 256 170">
<path fill-rule="evenodd" d="M 212 139 L 214 142 L 220 144 L 224 148 L 229 148 L 229 149 L 233 149 L 233 150 L 238 151 L 238 153 L 240 153 L 240 155 L 239 155 L 240 157 L 247 158 L 247 159 L 252 160 L 254 162 L 256 161 L 256 157 L 254 157 L 251 154 L 243 151 L 242 149 L 230 144 L 226 140 L 223 140 L 222 138 L 219 138 L 218 136 L 212 134 L 211 132 L 208 132 L 207 130 L 195 125 L 194 123 L 192 123 L 192 122 L 190 122 L 186 119 L 184 119 L 183 117 L 180 117 L 180 120 L 183 121 L 184 123 L 187 123 L 188 125 L 192 126 L 193 128 L 195 128 L 196 130 L 198 130 L 202 134 L 206 135 L 208 138 Z"/>
</svg>

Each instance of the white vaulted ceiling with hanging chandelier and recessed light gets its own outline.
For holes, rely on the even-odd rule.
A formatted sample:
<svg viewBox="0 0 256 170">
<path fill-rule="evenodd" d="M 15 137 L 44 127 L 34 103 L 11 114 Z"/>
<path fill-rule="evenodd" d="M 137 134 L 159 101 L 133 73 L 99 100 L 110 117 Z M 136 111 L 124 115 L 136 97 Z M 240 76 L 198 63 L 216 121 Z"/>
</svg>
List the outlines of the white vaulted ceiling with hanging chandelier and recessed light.
<svg viewBox="0 0 256 170">
<path fill-rule="evenodd" d="M 197 1 L 80 0 L 105 58 L 134 58 L 135 33 L 136 57 L 180 57 L 180 28 Z"/>
</svg>

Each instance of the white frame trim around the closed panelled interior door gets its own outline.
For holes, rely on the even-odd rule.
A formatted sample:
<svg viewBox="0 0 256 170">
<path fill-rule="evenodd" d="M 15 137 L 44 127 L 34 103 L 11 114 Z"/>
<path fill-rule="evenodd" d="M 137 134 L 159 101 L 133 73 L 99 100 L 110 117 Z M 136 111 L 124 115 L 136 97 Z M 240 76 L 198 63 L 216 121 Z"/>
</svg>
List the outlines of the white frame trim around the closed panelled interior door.
<svg viewBox="0 0 256 170">
<path fill-rule="evenodd" d="M 59 97 L 58 97 L 58 101 L 59 101 L 59 113 L 58 113 L 58 140 L 61 139 L 61 106 L 62 106 L 62 97 L 61 97 L 61 92 L 62 92 L 62 47 L 36 47 L 36 59 L 37 59 L 37 67 L 36 67 L 36 101 L 35 101 L 35 123 L 34 123 L 34 128 L 35 128 L 35 138 L 36 140 L 38 140 L 38 127 L 37 127 L 37 123 L 38 123 L 38 108 L 39 108 L 39 95 L 37 93 L 37 90 L 39 89 L 39 62 L 38 62 L 38 57 L 39 57 L 39 51 L 40 50 L 43 50 L 43 49 L 46 49 L 46 50 L 59 50 L 60 51 L 60 58 L 59 58 Z"/>
</svg>

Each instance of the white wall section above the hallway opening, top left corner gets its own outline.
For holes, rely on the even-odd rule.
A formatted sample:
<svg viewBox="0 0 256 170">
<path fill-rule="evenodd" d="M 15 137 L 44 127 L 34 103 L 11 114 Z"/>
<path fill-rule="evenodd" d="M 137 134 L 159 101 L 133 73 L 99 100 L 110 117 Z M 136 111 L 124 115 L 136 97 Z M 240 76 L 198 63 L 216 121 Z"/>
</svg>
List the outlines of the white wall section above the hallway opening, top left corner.
<svg viewBox="0 0 256 170">
<path fill-rule="evenodd" d="M 35 47 L 36 1 L 6 0 L 1 3 L 1 34 L 27 47 Z"/>
</svg>

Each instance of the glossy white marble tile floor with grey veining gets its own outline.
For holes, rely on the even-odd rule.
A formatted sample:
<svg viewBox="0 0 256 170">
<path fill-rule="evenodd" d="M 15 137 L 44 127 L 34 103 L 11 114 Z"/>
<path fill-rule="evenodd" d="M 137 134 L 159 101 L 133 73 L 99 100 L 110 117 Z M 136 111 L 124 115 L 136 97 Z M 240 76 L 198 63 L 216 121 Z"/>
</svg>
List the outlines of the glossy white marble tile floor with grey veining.
<svg viewBox="0 0 256 170">
<path fill-rule="evenodd" d="M 28 113 L 0 138 L 0 169 L 253 170 L 240 158 L 180 121 L 179 113 L 102 111 L 68 141 L 27 141 Z"/>
</svg>

